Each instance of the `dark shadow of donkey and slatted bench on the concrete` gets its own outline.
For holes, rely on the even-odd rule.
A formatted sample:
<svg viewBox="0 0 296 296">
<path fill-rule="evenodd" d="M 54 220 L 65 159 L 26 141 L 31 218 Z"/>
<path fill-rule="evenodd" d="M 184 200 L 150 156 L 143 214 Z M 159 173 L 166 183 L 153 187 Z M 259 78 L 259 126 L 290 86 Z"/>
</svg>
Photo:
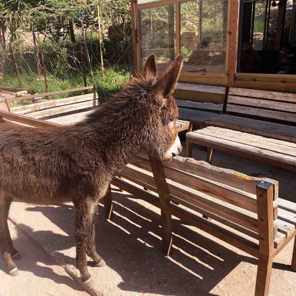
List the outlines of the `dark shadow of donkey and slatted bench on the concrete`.
<svg viewBox="0 0 296 296">
<path fill-rule="evenodd" d="M 173 247 L 167 258 L 161 252 L 159 210 L 145 207 L 144 202 L 132 195 L 113 191 L 112 199 L 114 213 L 111 222 L 104 218 L 104 208 L 99 206 L 96 248 L 107 265 L 121 276 L 118 287 L 124 291 L 214 295 L 210 291 L 239 263 L 257 264 L 257 259 L 239 255 L 177 219 L 173 219 Z M 55 251 L 75 246 L 72 205 L 36 206 L 27 210 L 42 212 L 69 235 L 60 236 L 51 231 L 36 233 L 39 237 L 49 236 L 51 242 L 59 242 Z M 74 264 L 74 258 L 69 256 L 64 256 L 63 260 Z M 91 262 L 89 266 L 92 266 Z M 281 264 L 273 267 L 284 268 Z"/>
</svg>

